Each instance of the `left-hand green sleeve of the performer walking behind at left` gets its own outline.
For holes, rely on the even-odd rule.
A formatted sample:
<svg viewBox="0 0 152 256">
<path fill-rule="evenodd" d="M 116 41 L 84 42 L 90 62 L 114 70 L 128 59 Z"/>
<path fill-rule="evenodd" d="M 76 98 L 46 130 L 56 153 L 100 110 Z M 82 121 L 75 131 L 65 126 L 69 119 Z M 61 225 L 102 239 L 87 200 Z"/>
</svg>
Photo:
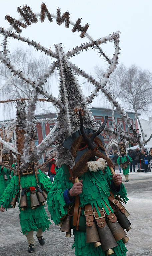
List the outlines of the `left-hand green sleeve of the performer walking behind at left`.
<svg viewBox="0 0 152 256">
<path fill-rule="evenodd" d="M 13 176 L 13 178 L 11 179 L 10 183 L 7 185 L 6 189 L 4 190 L 4 193 L 0 198 L 0 204 L 3 204 L 3 207 L 5 207 L 6 210 L 12 198 L 15 197 L 18 191 L 19 191 L 18 176 Z"/>
</svg>

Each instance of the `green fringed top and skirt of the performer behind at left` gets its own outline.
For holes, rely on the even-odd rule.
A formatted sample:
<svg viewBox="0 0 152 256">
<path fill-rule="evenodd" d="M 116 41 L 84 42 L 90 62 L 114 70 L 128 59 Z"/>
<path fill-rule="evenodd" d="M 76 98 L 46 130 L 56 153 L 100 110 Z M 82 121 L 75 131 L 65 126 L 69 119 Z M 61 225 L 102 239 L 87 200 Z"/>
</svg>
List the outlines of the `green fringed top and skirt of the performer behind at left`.
<svg viewBox="0 0 152 256">
<path fill-rule="evenodd" d="M 37 174 L 38 184 L 41 189 L 44 189 L 47 193 L 50 191 L 51 182 L 45 174 L 40 170 Z M 20 176 L 20 185 L 22 188 L 29 188 L 31 186 L 37 186 L 35 174 L 21 175 Z M 0 203 L 3 204 L 3 207 L 7 210 L 9 203 L 12 198 L 19 192 L 18 186 L 18 176 L 13 176 L 9 185 L 5 189 L 3 195 L 0 198 Z M 37 207 L 36 209 L 31 209 L 30 207 L 30 192 L 27 192 L 27 203 L 28 207 L 24 211 L 20 211 L 20 225 L 21 231 L 23 234 L 27 234 L 29 231 L 37 231 L 38 229 L 49 229 L 51 222 L 48 220 L 48 216 L 45 212 L 44 205 Z M 18 197 L 19 202 L 19 197 Z"/>
</svg>

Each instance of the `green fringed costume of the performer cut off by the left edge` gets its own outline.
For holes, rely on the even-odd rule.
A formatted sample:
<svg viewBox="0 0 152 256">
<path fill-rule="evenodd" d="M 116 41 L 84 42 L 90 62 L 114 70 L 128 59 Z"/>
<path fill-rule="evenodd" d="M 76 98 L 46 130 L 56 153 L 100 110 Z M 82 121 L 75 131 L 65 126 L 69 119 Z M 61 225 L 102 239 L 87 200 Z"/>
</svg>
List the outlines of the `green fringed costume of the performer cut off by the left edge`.
<svg viewBox="0 0 152 256">
<path fill-rule="evenodd" d="M 9 169 L 6 169 L 5 167 L 3 168 L 1 167 L 2 166 L 0 166 L 0 197 L 11 180 L 9 176 L 10 174 Z M 6 174 L 7 180 L 4 180 L 4 174 Z"/>
</svg>

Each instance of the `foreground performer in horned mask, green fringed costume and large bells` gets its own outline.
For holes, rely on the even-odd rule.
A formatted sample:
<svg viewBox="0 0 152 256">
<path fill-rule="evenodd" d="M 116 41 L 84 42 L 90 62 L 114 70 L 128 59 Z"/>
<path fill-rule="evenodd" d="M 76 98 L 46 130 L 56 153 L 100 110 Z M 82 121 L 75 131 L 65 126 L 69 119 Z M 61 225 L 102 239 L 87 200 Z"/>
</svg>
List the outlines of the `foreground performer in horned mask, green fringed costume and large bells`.
<svg viewBox="0 0 152 256">
<path fill-rule="evenodd" d="M 84 120 L 87 114 L 86 110 Z M 75 255 L 125 256 L 124 243 L 129 238 L 124 229 L 129 231 L 131 223 L 120 198 L 125 202 L 128 199 L 120 174 L 111 174 L 114 165 L 103 146 L 100 133 L 107 117 L 95 132 L 90 128 L 83 129 L 81 110 L 79 115 L 81 129 L 72 133 L 62 147 L 63 158 L 69 150 L 75 164 L 72 168 L 70 161 L 67 163 L 65 159 L 67 164 L 57 170 L 48 194 L 51 219 L 61 226 L 60 231 L 66 232 L 66 237 L 71 236 L 73 229 Z M 91 120 L 90 125 L 93 126 Z M 58 165 L 59 162 L 64 160 L 58 161 Z"/>
</svg>

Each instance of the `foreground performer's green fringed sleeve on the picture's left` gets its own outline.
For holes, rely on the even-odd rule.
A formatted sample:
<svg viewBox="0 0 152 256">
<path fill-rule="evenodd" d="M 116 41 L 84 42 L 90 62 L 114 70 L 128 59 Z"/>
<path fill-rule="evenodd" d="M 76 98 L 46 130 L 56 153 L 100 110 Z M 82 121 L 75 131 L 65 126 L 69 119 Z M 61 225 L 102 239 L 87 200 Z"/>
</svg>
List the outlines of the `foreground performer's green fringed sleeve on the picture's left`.
<svg viewBox="0 0 152 256">
<path fill-rule="evenodd" d="M 63 197 L 63 192 L 73 186 L 72 182 L 68 182 L 64 169 L 65 171 L 68 170 L 65 164 L 57 169 L 51 191 L 47 196 L 48 210 L 55 224 L 59 224 L 60 218 L 67 214 L 67 205 Z"/>
</svg>

